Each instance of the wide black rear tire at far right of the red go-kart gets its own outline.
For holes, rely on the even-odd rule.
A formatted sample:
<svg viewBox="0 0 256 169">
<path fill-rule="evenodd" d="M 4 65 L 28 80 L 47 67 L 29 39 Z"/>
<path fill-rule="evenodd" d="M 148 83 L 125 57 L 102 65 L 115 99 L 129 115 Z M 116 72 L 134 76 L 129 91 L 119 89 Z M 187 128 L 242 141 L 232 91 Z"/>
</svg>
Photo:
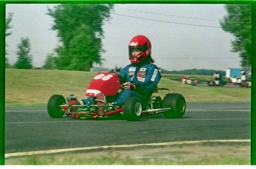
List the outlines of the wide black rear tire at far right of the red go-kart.
<svg viewBox="0 0 256 169">
<path fill-rule="evenodd" d="M 186 100 L 182 94 L 166 94 L 163 99 L 163 108 L 171 108 L 164 113 L 166 118 L 181 118 L 186 111 Z"/>
</svg>

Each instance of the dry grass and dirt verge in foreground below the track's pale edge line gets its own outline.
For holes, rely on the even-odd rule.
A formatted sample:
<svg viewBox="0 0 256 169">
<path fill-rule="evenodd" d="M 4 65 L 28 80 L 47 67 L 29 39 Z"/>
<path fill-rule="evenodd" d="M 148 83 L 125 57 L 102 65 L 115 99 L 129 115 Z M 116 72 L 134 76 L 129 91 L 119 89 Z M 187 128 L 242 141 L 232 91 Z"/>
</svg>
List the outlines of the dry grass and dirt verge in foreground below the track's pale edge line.
<svg viewBox="0 0 256 169">
<path fill-rule="evenodd" d="M 5 165 L 250 165 L 250 143 L 203 143 L 9 157 Z"/>
</svg>

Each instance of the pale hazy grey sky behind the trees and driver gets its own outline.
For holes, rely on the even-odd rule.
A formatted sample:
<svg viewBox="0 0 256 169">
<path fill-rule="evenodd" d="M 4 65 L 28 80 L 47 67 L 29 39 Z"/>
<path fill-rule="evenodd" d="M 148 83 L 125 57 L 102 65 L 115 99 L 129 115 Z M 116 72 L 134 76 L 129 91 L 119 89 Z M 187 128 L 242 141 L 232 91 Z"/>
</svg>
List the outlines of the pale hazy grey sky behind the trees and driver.
<svg viewBox="0 0 256 169">
<path fill-rule="evenodd" d="M 30 39 L 33 66 L 42 67 L 47 54 L 59 45 L 53 18 L 47 7 L 56 4 L 7 4 L 13 13 L 7 36 L 7 58 L 13 64 L 22 37 Z M 152 44 L 152 58 L 162 69 L 240 68 L 240 58 L 231 52 L 234 36 L 224 32 L 220 20 L 227 15 L 225 4 L 115 4 L 111 18 L 104 22 L 102 66 L 124 67 L 128 44 L 135 35 L 147 36 Z M 95 64 L 94 66 L 99 66 Z"/>
</svg>

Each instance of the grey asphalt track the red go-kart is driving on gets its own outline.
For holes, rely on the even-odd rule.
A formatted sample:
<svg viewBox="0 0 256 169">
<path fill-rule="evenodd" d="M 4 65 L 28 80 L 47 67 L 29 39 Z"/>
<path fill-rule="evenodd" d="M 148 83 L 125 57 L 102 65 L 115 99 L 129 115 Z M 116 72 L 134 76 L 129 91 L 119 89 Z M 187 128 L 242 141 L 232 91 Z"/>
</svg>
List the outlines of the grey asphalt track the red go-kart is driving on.
<svg viewBox="0 0 256 169">
<path fill-rule="evenodd" d="M 53 119 L 46 107 L 7 107 L 5 154 L 170 142 L 251 139 L 251 103 L 187 103 L 180 119 L 163 114 L 126 120 Z M 15 155 L 13 155 L 15 156 Z"/>
</svg>

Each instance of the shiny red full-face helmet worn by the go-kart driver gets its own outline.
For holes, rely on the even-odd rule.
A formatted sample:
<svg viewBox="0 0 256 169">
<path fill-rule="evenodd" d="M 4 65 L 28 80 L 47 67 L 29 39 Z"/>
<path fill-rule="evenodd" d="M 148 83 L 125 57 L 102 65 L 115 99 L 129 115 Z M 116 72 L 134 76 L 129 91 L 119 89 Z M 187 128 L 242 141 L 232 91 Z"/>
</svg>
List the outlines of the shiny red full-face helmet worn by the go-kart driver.
<svg viewBox="0 0 256 169">
<path fill-rule="evenodd" d="M 132 52 L 139 50 L 140 54 L 133 56 Z M 131 39 L 129 44 L 129 59 L 131 63 L 139 63 L 144 61 L 151 55 L 151 42 L 145 35 L 137 35 Z"/>
</svg>

